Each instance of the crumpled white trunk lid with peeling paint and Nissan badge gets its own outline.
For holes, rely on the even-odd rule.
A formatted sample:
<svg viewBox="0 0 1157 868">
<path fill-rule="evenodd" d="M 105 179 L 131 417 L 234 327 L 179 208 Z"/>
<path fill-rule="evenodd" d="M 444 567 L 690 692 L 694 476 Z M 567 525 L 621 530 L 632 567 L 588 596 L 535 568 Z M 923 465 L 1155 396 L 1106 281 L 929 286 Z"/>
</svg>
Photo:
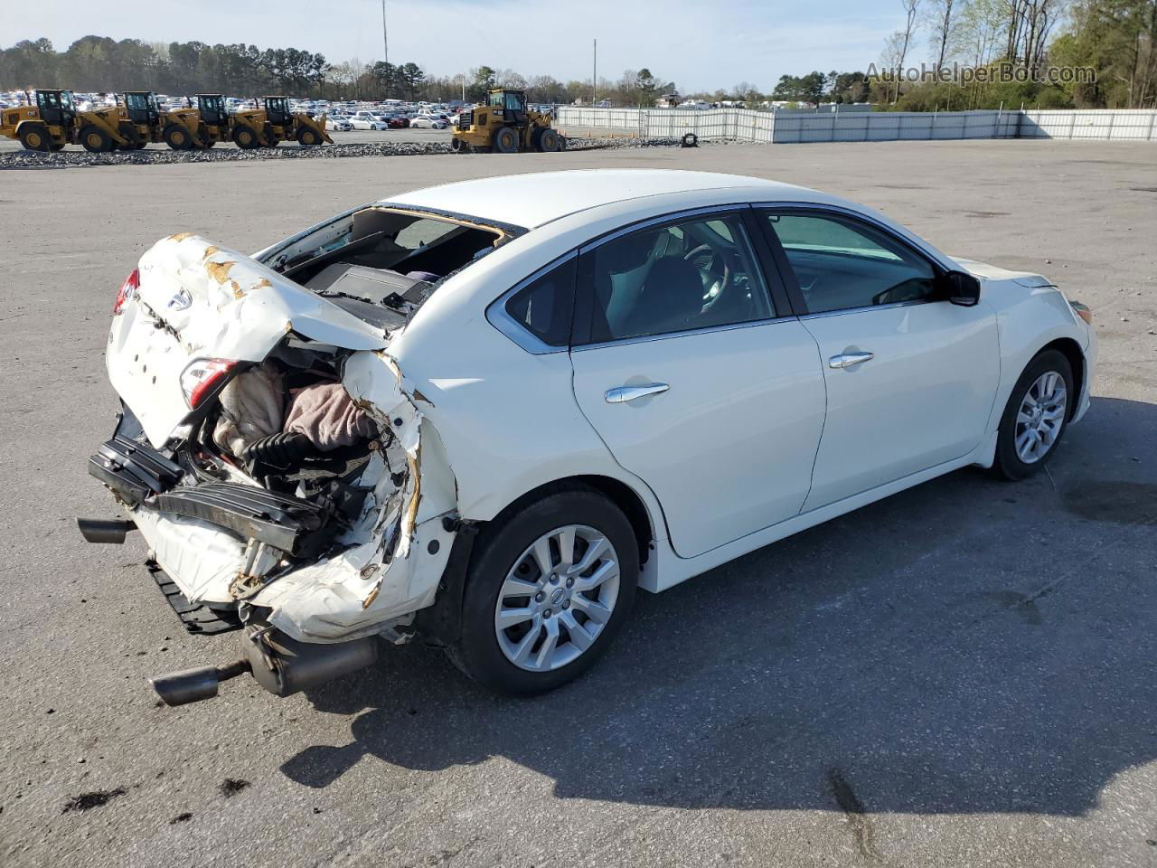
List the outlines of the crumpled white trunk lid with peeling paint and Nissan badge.
<svg viewBox="0 0 1157 868">
<path fill-rule="evenodd" d="M 157 448 L 191 412 L 180 375 L 196 360 L 260 362 L 288 332 L 347 350 L 389 345 L 383 330 L 191 233 L 159 241 L 139 271 L 113 317 L 105 367 Z"/>
</svg>

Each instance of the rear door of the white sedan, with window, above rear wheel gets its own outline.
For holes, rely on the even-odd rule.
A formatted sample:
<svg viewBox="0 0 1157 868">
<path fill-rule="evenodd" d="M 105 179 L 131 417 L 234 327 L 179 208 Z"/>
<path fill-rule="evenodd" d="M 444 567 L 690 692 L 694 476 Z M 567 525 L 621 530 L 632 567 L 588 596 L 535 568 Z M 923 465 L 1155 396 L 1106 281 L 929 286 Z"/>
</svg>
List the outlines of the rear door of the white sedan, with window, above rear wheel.
<svg viewBox="0 0 1157 868">
<path fill-rule="evenodd" d="M 580 262 L 578 406 L 694 557 L 798 514 L 824 422 L 816 341 L 768 292 L 750 208 L 612 236 Z"/>
</svg>

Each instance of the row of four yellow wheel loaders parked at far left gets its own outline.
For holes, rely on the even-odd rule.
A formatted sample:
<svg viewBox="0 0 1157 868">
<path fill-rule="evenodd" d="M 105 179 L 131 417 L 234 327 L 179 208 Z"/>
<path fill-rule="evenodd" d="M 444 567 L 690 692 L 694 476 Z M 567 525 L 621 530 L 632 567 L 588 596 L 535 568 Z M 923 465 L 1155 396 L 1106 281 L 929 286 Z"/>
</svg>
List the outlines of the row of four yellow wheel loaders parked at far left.
<svg viewBox="0 0 1157 868">
<path fill-rule="evenodd" d="M 134 150 L 163 141 L 174 150 L 212 148 L 233 141 L 239 148 L 273 148 L 287 139 L 314 147 L 333 139 L 325 132 L 325 116 L 289 110 L 289 97 L 266 96 L 264 106 L 234 113 L 221 94 L 197 94 L 197 105 L 161 111 L 156 95 L 128 90 L 116 105 L 78 111 L 72 90 L 37 90 L 35 105 L 0 110 L 0 135 L 20 139 L 28 150 L 60 150 L 81 145 L 86 150 Z"/>
</svg>

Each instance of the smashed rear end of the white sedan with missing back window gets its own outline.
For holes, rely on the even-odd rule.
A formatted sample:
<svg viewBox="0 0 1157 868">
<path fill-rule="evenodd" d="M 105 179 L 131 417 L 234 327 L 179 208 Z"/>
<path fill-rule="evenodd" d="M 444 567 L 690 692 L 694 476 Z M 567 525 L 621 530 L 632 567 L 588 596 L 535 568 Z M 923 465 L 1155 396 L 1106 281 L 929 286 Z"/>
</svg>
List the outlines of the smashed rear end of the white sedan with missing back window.
<svg viewBox="0 0 1157 868">
<path fill-rule="evenodd" d="M 448 277 L 508 235 L 382 205 L 249 258 L 157 242 L 117 296 L 121 398 L 89 459 L 191 632 L 241 631 L 220 665 L 152 679 L 169 705 L 245 672 L 278 696 L 369 665 L 432 605 L 463 524 L 439 432 L 390 354 Z"/>
</svg>

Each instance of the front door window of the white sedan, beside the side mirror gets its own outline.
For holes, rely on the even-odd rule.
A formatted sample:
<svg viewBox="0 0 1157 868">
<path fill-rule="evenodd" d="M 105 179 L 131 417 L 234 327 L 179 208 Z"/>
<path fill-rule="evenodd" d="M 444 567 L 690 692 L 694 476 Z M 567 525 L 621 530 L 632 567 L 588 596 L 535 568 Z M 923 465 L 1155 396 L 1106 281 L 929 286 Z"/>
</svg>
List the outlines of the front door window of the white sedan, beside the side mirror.
<svg viewBox="0 0 1157 868">
<path fill-rule="evenodd" d="M 834 214 L 767 214 L 811 314 L 933 297 L 936 272 L 886 233 Z"/>
</svg>

